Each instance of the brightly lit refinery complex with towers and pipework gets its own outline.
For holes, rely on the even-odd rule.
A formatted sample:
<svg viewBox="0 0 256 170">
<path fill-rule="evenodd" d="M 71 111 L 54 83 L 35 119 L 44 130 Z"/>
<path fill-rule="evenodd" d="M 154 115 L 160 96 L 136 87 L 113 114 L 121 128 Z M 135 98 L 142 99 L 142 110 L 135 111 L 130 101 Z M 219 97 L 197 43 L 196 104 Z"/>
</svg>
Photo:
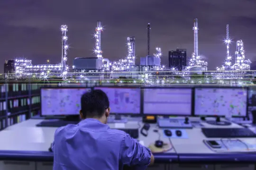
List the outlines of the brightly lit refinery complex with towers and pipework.
<svg viewBox="0 0 256 170">
<path fill-rule="evenodd" d="M 162 51 L 160 47 L 155 48 L 155 53 L 150 56 L 150 23 L 147 27 L 147 55 L 140 57 L 140 64 L 136 65 L 136 39 L 134 36 L 127 38 L 127 55 L 123 59 L 117 61 L 110 61 L 104 58 L 101 50 L 101 34 L 102 23 L 97 21 L 94 38 L 95 57 L 91 58 L 75 58 L 73 59 L 73 72 L 67 65 L 68 60 L 68 26 L 62 25 L 61 41 L 62 53 L 60 64 L 41 64 L 33 65 L 32 60 L 25 58 L 18 58 L 14 60 L 13 74 L 6 74 L 5 78 L 15 79 L 41 79 L 48 80 L 52 77 L 58 77 L 64 82 L 90 82 L 102 81 L 110 83 L 122 83 L 122 79 L 128 79 L 129 83 L 141 83 L 146 85 L 157 84 L 204 84 L 204 83 L 229 83 L 241 84 L 241 79 L 249 80 L 243 81 L 242 84 L 252 84 L 251 79 L 254 78 L 250 72 L 251 61 L 246 59 L 244 42 L 238 40 L 236 43 L 236 51 L 234 64 L 232 65 L 232 56 L 230 55 L 229 46 L 231 40 L 229 38 L 229 25 L 226 29 L 225 44 L 227 47 L 227 54 L 225 64 L 218 67 L 216 70 L 209 71 L 208 63 L 204 61 L 199 54 L 198 41 L 198 19 L 193 22 L 194 48 L 189 62 L 185 64 L 182 70 L 175 67 L 168 68 L 161 65 Z M 229 80 L 229 81 L 227 81 Z"/>
</svg>

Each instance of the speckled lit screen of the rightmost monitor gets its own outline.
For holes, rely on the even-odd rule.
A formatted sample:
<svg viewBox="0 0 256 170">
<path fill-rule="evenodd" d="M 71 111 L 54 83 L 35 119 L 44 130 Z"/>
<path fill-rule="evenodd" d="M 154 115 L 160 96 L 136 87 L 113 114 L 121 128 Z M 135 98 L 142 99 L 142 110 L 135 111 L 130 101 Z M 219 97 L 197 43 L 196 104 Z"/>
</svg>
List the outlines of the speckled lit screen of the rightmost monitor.
<svg viewBox="0 0 256 170">
<path fill-rule="evenodd" d="M 195 88 L 195 115 L 246 116 L 247 89 Z"/>
</svg>

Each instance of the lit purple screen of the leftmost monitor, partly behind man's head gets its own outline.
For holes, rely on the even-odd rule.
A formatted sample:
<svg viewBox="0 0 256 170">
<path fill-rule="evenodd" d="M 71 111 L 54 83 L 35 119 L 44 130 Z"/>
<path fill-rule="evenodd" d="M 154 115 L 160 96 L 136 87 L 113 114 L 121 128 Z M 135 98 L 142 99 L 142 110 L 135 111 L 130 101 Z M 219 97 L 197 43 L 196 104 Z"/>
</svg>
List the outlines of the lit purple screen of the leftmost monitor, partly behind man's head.
<svg viewBox="0 0 256 170">
<path fill-rule="evenodd" d="M 82 94 L 90 90 L 90 88 L 42 88 L 41 115 L 79 114 Z"/>
</svg>

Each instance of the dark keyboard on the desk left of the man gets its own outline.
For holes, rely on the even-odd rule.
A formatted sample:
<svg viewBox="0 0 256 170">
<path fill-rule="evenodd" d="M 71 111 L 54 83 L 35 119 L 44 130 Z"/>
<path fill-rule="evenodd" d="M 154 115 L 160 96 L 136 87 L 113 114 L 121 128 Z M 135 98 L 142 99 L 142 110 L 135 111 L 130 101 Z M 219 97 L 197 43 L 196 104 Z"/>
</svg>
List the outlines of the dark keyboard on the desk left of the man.
<svg viewBox="0 0 256 170">
<path fill-rule="evenodd" d="M 63 127 L 69 124 L 77 124 L 78 121 L 66 121 L 66 120 L 44 120 L 37 124 L 37 127 Z"/>
</svg>

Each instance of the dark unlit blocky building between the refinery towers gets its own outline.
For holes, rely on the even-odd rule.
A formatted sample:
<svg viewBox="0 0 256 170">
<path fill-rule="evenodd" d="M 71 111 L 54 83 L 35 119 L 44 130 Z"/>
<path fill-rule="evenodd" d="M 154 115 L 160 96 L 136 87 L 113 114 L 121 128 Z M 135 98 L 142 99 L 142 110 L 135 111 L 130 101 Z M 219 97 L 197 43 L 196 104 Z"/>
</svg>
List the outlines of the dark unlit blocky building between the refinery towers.
<svg viewBox="0 0 256 170">
<path fill-rule="evenodd" d="M 169 51 L 169 68 L 175 68 L 182 71 L 187 66 L 187 50 L 177 49 L 176 51 Z"/>
</svg>

